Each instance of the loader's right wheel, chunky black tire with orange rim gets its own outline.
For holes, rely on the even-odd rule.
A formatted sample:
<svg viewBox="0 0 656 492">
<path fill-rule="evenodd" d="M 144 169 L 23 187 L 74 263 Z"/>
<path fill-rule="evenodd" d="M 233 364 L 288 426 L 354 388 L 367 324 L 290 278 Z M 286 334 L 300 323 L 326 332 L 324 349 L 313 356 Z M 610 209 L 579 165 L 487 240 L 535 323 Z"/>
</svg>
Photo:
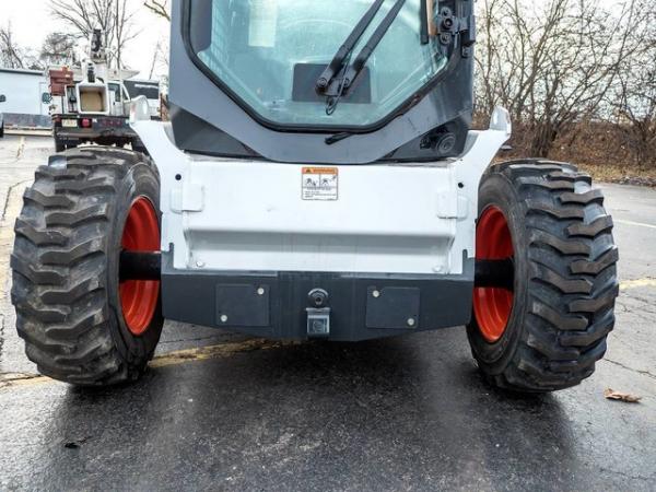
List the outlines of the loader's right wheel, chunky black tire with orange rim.
<svg viewBox="0 0 656 492">
<path fill-rule="evenodd" d="M 477 259 L 513 258 L 514 290 L 476 289 L 467 328 L 495 386 L 546 393 L 578 385 L 614 326 L 618 249 L 604 196 L 576 167 L 518 161 L 480 186 Z"/>
</svg>

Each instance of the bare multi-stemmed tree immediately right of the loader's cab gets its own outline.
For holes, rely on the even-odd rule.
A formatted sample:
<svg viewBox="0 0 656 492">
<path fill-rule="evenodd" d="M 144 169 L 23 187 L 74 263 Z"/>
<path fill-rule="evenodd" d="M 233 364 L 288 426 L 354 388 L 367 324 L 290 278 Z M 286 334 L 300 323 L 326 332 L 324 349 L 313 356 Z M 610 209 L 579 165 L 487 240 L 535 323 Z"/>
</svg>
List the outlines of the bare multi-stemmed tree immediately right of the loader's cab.
<svg viewBox="0 0 656 492">
<path fill-rule="evenodd" d="M 507 107 L 548 156 L 577 121 L 599 115 L 602 102 L 636 49 L 636 20 L 628 0 L 612 11 L 599 0 L 484 0 L 479 47 L 479 103 Z"/>
</svg>

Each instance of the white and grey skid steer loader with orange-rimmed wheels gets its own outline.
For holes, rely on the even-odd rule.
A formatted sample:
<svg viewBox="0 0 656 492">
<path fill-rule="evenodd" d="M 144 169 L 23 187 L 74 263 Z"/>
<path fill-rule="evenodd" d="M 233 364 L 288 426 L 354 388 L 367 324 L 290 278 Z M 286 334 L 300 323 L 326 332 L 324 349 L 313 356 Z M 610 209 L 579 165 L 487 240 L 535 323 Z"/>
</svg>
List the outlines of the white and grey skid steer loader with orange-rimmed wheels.
<svg viewBox="0 0 656 492">
<path fill-rule="evenodd" d="M 473 0 L 175 0 L 171 124 L 145 153 L 36 172 L 12 300 L 28 358 L 74 385 L 137 379 L 165 318 L 358 341 L 467 326 L 517 391 L 590 376 L 613 328 L 612 220 L 570 164 L 491 165 L 470 130 Z"/>
</svg>

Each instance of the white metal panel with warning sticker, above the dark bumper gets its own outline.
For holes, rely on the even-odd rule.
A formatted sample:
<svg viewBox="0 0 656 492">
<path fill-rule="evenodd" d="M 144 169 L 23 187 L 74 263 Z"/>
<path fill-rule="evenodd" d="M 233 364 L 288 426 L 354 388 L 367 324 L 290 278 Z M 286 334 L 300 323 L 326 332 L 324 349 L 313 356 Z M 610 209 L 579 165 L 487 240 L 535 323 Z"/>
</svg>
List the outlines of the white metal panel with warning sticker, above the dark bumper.
<svg viewBox="0 0 656 492">
<path fill-rule="evenodd" d="M 164 125 L 132 126 L 162 175 L 162 249 L 176 269 L 218 271 L 460 274 L 481 175 L 509 136 L 499 110 L 460 160 L 326 166 L 337 191 L 307 200 L 307 166 L 191 156 Z"/>
</svg>

